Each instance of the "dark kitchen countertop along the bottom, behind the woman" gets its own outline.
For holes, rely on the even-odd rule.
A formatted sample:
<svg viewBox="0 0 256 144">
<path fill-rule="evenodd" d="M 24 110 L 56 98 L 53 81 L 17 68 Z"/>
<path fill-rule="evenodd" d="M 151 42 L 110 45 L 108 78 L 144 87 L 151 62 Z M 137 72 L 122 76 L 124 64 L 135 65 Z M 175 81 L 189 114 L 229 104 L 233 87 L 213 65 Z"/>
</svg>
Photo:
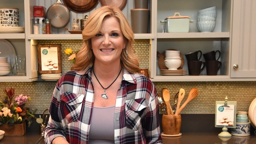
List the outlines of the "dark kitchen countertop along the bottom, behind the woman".
<svg viewBox="0 0 256 144">
<path fill-rule="evenodd" d="M 38 133 L 26 133 L 23 136 L 4 136 L 0 144 L 43 144 L 36 143 L 41 137 Z M 184 133 L 178 137 L 162 136 L 163 144 L 255 144 L 256 136 L 219 137 L 218 133 Z"/>
</svg>

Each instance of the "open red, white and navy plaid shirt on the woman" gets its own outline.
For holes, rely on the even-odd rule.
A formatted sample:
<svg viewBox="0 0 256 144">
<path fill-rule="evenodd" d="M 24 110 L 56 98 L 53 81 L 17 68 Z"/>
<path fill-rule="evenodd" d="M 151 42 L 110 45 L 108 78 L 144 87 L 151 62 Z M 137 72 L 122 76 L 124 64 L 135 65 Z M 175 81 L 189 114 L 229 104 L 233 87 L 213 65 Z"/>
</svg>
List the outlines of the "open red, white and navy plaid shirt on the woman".
<svg viewBox="0 0 256 144">
<path fill-rule="evenodd" d="M 88 144 L 94 105 L 91 70 L 70 71 L 58 80 L 44 130 L 46 144 L 58 136 L 70 144 Z M 161 144 L 158 116 L 154 84 L 124 69 L 113 120 L 115 144 Z"/>
</svg>

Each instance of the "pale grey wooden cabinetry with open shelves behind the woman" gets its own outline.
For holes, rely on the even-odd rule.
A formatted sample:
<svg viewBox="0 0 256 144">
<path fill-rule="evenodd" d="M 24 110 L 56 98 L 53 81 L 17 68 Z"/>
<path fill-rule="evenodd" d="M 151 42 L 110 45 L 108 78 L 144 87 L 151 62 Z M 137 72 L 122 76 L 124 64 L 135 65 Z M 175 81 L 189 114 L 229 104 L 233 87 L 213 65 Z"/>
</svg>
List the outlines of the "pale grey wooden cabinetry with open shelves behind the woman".
<svg viewBox="0 0 256 144">
<path fill-rule="evenodd" d="M 69 34 L 64 28 L 56 29 L 52 27 L 52 34 L 32 34 L 32 18 L 33 6 L 44 6 L 47 9 L 57 0 L 2 0 L 1 7 L 17 7 L 20 9 L 20 26 L 25 27 L 25 33 L 5 33 L 0 34 L 0 38 L 10 40 L 13 45 L 21 44 L 23 51 L 27 56 L 27 75 L 23 77 L 17 76 L 4 76 L 0 77 L 0 81 L 33 81 L 37 80 L 37 54 L 36 45 L 37 40 L 40 39 L 82 39 L 81 34 Z M 150 39 L 151 50 L 149 56 L 149 75 L 152 81 L 247 81 L 256 80 L 255 76 L 255 44 L 253 45 L 253 38 L 255 39 L 255 27 L 248 25 L 255 25 L 253 18 L 249 16 L 243 17 L 245 14 L 255 15 L 255 10 L 249 9 L 255 7 L 253 0 L 246 2 L 243 0 L 149 0 L 150 5 L 150 33 L 148 34 L 135 34 L 135 39 Z M 63 3 L 63 2 L 62 2 Z M 234 3 L 234 8 L 233 8 Z M 241 4 L 240 4 L 241 3 Z M 245 4 L 246 3 L 246 4 Z M 248 4 L 250 3 L 250 4 Z M 244 5 L 242 5 L 244 4 Z M 217 20 L 213 32 L 202 33 L 197 30 L 196 17 L 197 11 L 208 7 L 217 7 Z M 245 7 L 246 6 L 246 7 Z M 96 6 L 95 9 L 101 7 L 101 4 Z M 131 25 L 130 10 L 134 8 L 134 1 L 127 1 L 127 5 L 122 10 Z M 95 9 L 86 13 L 75 13 L 71 11 L 72 19 L 82 19 L 85 15 L 90 15 Z M 240 13 L 240 11 L 242 12 Z M 249 11 L 249 12 L 248 12 Z M 189 32 L 186 33 L 161 33 L 160 20 L 164 20 L 167 16 L 174 15 L 175 12 L 180 12 L 181 15 L 190 16 L 194 22 L 190 23 Z M 235 17 L 234 15 L 239 15 Z M 243 19 L 245 23 L 240 21 Z M 249 21 L 251 20 L 251 21 Z M 237 22 L 238 21 L 238 22 Z M 247 22 L 248 21 L 248 22 Z M 67 24 L 71 30 L 72 22 Z M 235 24 L 234 24 L 235 23 Z M 245 25 L 246 24 L 246 25 Z M 80 25 L 80 24 L 79 24 Z M 249 27 L 251 26 L 251 27 Z M 240 29 L 242 27 L 243 29 Z M 249 31 L 249 29 L 251 31 Z M 246 30 L 246 31 L 244 31 Z M 244 33 L 243 33 L 244 32 Z M 251 33 L 250 33 L 251 32 Z M 238 33 L 238 34 L 235 34 Z M 247 38 L 244 37 L 247 35 Z M 241 37 L 240 37 L 241 36 Z M 246 41 L 251 42 L 250 45 Z M 238 47 L 242 45 L 243 47 Z M 245 45 L 247 44 L 247 45 Z M 245 47 L 250 49 L 245 50 Z M 254 49 L 253 49 L 254 48 Z M 208 76 L 204 70 L 199 76 L 162 76 L 157 74 L 157 51 L 160 53 L 167 49 L 180 50 L 184 57 L 183 69 L 187 69 L 187 61 L 185 53 L 191 51 L 201 50 L 203 53 L 209 51 L 221 51 L 222 68 L 218 75 Z M 235 51 L 243 51 L 235 52 Z M 232 53 L 231 53 L 232 52 Z M 247 52 L 247 53 L 246 53 Z M 240 57 L 238 59 L 238 57 Z M 248 57 L 250 60 L 246 60 Z M 203 57 L 201 59 L 204 61 Z M 239 60 L 239 61 L 235 61 Z M 243 62 L 240 64 L 238 62 Z M 253 62 L 251 62 L 253 61 Z M 234 71 L 233 63 L 239 65 L 239 69 Z M 246 68 L 247 66 L 247 68 Z M 242 69 L 240 69 L 242 68 Z M 251 72 L 249 74 L 238 76 L 238 72 Z M 187 70 L 188 72 L 188 70 Z M 235 73 L 236 72 L 236 73 Z M 235 74 L 235 75 L 234 75 Z M 254 76 L 253 76 L 254 75 Z M 240 78 L 241 77 L 241 78 Z M 248 77 L 252 77 L 248 79 Z"/>
</svg>

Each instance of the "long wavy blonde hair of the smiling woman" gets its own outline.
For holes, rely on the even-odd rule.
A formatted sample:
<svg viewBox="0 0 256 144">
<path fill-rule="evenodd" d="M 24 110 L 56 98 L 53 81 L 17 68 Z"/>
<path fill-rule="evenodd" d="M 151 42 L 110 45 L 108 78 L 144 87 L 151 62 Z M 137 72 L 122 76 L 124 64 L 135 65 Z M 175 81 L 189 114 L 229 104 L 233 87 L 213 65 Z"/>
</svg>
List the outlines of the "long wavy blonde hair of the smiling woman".
<svg viewBox="0 0 256 144">
<path fill-rule="evenodd" d="M 124 40 L 126 42 L 128 58 L 125 61 L 126 51 L 123 49 L 120 55 L 122 68 L 125 68 L 131 73 L 139 72 L 139 58 L 135 55 L 135 50 L 132 47 L 132 43 L 134 43 L 133 31 L 129 26 L 129 23 L 123 15 L 122 11 L 114 6 L 103 6 L 95 10 L 88 17 L 84 30 L 82 32 L 83 46 L 81 50 L 77 53 L 76 63 L 71 67 L 71 70 L 82 70 L 84 68 L 87 68 L 91 63 L 94 63 L 95 56 L 93 54 L 93 51 L 91 50 L 91 38 L 99 32 L 103 19 L 108 16 L 112 16 L 117 19 L 120 24 L 121 31 L 124 35 Z M 88 52 L 90 59 L 88 59 Z"/>
</svg>

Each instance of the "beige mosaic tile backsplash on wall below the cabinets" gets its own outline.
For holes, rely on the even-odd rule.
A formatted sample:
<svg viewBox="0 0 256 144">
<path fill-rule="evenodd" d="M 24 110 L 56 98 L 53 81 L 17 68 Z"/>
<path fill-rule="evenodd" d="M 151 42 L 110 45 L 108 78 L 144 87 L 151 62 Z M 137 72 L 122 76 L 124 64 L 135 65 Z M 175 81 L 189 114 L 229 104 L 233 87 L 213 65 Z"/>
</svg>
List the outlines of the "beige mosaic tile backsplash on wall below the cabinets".
<svg viewBox="0 0 256 144">
<path fill-rule="evenodd" d="M 39 41 L 40 44 L 61 44 L 62 48 L 62 72 L 70 70 L 72 63 L 68 61 L 68 56 L 64 54 L 66 48 L 72 48 L 78 51 L 82 46 L 82 40 L 44 40 Z M 134 44 L 136 54 L 140 57 L 140 67 L 148 68 L 149 65 L 149 40 L 136 40 Z M 37 108 L 37 113 L 49 108 L 51 96 L 56 81 L 37 81 L 37 82 L 1 82 L 0 83 L 0 100 L 3 99 L 4 88 L 14 87 L 15 95 L 28 94 L 32 100 L 26 105 L 32 110 Z M 175 93 L 183 88 L 186 91 L 184 100 L 191 88 L 199 89 L 199 95 L 192 100 L 183 109 L 182 113 L 215 113 L 215 101 L 224 100 L 228 96 L 228 100 L 237 101 L 237 111 L 248 111 L 251 101 L 256 97 L 256 81 L 245 82 L 154 82 L 158 92 L 163 87 L 170 91 L 173 97 Z M 173 98 L 170 103 L 173 104 Z M 182 103 L 181 103 L 182 104 Z M 162 113 L 160 111 L 160 113 Z"/>
</svg>

